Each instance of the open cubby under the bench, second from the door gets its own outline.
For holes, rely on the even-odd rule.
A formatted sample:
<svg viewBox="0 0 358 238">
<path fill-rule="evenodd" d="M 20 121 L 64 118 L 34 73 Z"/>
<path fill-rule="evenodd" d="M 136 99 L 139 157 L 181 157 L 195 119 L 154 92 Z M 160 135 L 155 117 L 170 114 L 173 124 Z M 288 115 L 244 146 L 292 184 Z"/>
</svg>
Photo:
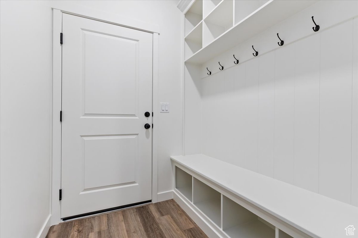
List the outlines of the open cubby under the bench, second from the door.
<svg viewBox="0 0 358 238">
<path fill-rule="evenodd" d="M 193 204 L 221 227 L 221 193 L 193 178 Z"/>
</svg>

